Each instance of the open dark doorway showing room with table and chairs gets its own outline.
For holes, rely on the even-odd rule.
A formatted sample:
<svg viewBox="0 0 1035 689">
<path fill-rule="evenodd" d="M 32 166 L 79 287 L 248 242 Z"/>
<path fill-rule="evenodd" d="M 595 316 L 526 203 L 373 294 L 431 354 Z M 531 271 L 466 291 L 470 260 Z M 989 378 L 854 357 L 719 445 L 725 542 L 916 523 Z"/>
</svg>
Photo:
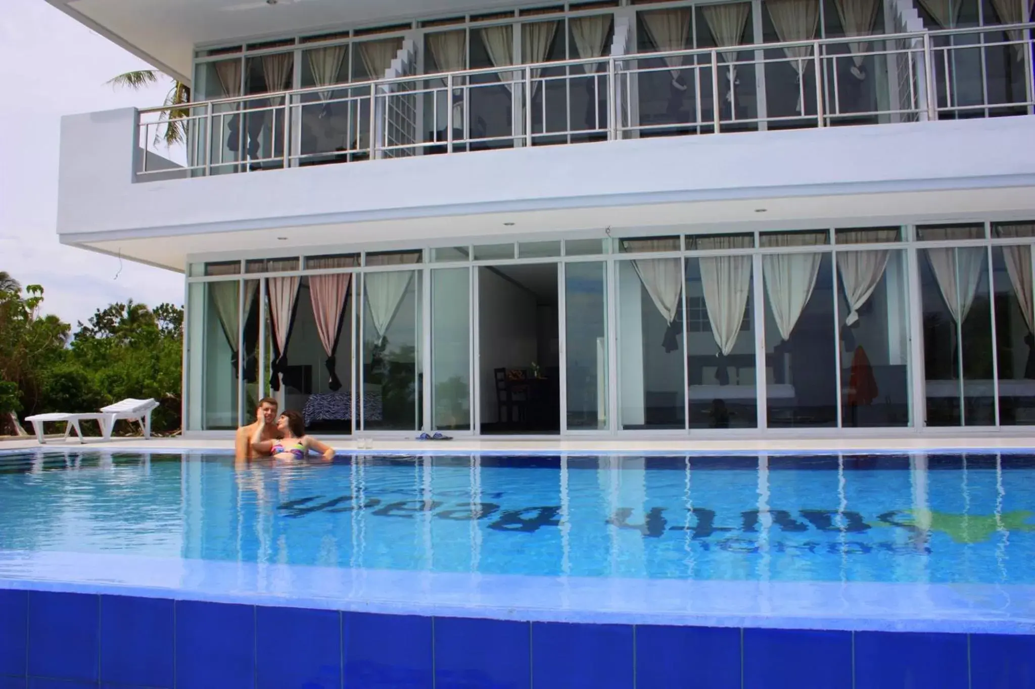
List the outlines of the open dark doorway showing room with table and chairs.
<svg viewBox="0 0 1035 689">
<path fill-rule="evenodd" d="M 481 433 L 560 433 L 557 263 L 478 269 Z"/>
</svg>

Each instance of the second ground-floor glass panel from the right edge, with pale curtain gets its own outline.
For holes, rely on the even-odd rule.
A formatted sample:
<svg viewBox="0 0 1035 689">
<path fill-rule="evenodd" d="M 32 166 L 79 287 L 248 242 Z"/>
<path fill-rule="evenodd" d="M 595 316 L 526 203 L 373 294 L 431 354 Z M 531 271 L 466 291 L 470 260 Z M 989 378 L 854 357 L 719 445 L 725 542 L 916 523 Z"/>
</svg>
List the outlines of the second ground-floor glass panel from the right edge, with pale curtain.
<svg viewBox="0 0 1035 689">
<path fill-rule="evenodd" d="M 927 426 L 996 422 L 987 254 L 920 252 Z"/>
</svg>

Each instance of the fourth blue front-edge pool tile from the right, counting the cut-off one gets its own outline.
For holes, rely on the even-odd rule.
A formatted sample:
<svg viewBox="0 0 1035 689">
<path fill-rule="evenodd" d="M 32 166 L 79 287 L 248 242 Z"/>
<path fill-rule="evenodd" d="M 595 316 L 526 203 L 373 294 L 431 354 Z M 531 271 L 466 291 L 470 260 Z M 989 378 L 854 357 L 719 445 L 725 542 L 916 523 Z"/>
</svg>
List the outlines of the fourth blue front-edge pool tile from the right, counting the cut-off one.
<svg viewBox="0 0 1035 689">
<path fill-rule="evenodd" d="M 637 627 L 637 689 L 740 689 L 740 629 Z"/>
</svg>

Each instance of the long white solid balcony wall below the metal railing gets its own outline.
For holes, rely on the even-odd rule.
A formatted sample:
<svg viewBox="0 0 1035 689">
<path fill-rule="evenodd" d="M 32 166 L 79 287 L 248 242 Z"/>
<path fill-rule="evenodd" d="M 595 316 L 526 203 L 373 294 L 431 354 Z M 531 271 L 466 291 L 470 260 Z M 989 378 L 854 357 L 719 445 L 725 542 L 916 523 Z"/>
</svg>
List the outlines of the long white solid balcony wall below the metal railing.
<svg viewBox="0 0 1035 689">
<path fill-rule="evenodd" d="M 58 231 L 66 241 L 109 230 L 1035 184 L 1032 117 L 628 139 L 137 184 L 135 118 L 132 109 L 63 118 Z M 342 243 L 371 241 L 352 231 L 343 228 Z M 378 239 L 390 241 L 391 227 Z"/>
</svg>

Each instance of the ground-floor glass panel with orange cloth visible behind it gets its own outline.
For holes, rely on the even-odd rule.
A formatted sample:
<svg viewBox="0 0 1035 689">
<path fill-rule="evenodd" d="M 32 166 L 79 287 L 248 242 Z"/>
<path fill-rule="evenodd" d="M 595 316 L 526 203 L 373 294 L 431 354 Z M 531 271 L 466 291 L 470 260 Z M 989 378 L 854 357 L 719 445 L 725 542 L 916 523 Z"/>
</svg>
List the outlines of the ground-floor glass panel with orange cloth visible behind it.
<svg viewBox="0 0 1035 689">
<path fill-rule="evenodd" d="M 858 230 L 866 231 L 866 230 Z M 868 230 L 884 241 L 897 230 Z M 909 425 L 909 321 L 900 251 L 837 253 L 841 426 Z"/>
</svg>

